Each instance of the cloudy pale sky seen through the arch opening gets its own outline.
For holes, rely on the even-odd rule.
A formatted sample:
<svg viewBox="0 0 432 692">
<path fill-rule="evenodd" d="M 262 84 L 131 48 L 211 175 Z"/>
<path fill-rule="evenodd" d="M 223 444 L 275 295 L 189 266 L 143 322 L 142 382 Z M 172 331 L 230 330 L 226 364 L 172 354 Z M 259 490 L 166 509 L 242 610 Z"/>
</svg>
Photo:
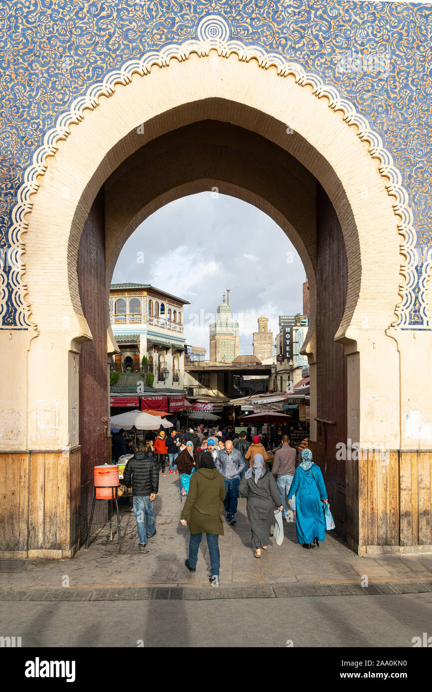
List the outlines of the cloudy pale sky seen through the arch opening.
<svg viewBox="0 0 432 692">
<path fill-rule="evenodd" d="M 144 261 L 143 255 L 144 253 Z M 208 325 L 222 293 L 239 325 L 239 352 L 253 353 L 258 317 L 303 311 L 305 270 L 282 229 L 246 202 L 211 192 L 183 197 L 146 219 L 123 247 L 113 283 L 143 282 L 179 295 L 186 343 L 209 349 Z"/>
</svg>

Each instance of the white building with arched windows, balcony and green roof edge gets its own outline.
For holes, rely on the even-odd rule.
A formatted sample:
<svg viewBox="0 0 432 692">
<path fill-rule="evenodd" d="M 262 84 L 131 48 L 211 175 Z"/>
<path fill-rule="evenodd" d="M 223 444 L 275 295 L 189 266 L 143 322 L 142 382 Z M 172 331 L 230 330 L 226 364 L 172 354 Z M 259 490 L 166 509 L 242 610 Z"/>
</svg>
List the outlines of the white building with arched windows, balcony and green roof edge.
<svg viewBox="0 0 432 692">
<path fill-rule="evenodd" d="M 109 320 L 119 350 L 114 370 L 151 372 L 154 388 L 183 390 L 186 304 L 150 284 L 111 284 Z"/>
</svg>

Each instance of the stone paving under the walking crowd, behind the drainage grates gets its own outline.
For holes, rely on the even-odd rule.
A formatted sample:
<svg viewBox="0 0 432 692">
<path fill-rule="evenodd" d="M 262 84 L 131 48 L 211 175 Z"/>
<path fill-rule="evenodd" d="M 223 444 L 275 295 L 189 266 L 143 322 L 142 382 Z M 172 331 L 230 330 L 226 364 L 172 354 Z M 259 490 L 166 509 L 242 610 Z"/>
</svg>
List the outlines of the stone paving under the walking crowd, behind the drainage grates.
<svg viewBox="0 0 432 692">
<path fill-rule="evenodd" d="M 109 542 L 108 527 L 102 527 L 91 539 L 89 549 L 80 549 L 72 560 L 31 560 L 17 565 L 20 572 L 4 572 L 0 566 L 2 588 L 59 588 L 64 579 L 73 586 L 128 585 L 208 585 L 208 550 L 201 543 L 197 572 L 190 574 L 184 566 L 188 549 L 188 529 L 179 521 L 178 476 L 161 477 L 159 494 L 154 502 L 156 536 L 148 547 L 138 551 L 138 536 L 133 513 L 123 506 L 121 512 L 122 550 L 118 552 L 116 534 Z M 432 578 L 432 556 L 386 555 L 360 558 L 338 539 L 334 531 L 327 534 L 319 549 L 305 550 L 296 540 L 294 524 L 285 525 L 282 546 L 271 541 L 262 558 L 253 557 L 251 531 L 246 518 L 246 500 L 239 500 L 237 524 L 225 525 L 220 538 L 222 584 L 262 583 L 359 583 L 366 575 L 370 582 L 420 581 Z M 5 561 L 1 561 L 3 564 Z M 12 561 L 8 561 L 12 562 Z M 392 597 L 393 598 L 393 597 Z M 344 599 L 345 600 L 345 599 Z M 374 600 L 375 602 L 375 600 Z"/>
</svg>

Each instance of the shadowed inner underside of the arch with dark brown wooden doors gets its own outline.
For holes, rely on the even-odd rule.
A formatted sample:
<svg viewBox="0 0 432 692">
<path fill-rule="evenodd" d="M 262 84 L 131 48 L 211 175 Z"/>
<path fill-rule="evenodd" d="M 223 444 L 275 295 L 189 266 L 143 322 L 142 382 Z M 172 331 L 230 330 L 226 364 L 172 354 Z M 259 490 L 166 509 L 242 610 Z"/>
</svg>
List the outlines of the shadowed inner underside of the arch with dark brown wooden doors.
<svg viewBox="0 0 432 692">
<path fill-rule="evenodd" d="M 91 503 L 86 489 L 91 484 L 94 459 L 109 455 L 93 421 L 95 408 L 107 410 L 108 404 L 104 386 L 107 296 L 118 254 L 135 228 L 157 208 L 215 186 L 222 194 L 232 194 L 262 209 L 294 242 L 311 286 L 308 338 L 311 359 L 318 361 L 317 415 L 336 419 L 332 428 L 335 439 L 347 437 L 346 357 L 334 335 L 345 310 L 348 266 L 341 226 L 330 199 L 296 158 L 266 138 L 214 120 L 186 125 L 151 140 L 127 157 L 100 188 L 84 224 L 78 282 L 82 311 L 93 340 L 82 345 L 80 354 L 82 537 Z M 187 237 L 183 241 L 187 242 Z M 262 238 L 262 242 L 272 242 L 276 251 L 285 251 L 282 232 L 280 237 Z M 245 246 L 247 243 L 245 238 Z M 343 531 L 345 469 L 334 463 L 332 444 L 333 440 L 321 435 L 315 451 Z"/>
</svg>

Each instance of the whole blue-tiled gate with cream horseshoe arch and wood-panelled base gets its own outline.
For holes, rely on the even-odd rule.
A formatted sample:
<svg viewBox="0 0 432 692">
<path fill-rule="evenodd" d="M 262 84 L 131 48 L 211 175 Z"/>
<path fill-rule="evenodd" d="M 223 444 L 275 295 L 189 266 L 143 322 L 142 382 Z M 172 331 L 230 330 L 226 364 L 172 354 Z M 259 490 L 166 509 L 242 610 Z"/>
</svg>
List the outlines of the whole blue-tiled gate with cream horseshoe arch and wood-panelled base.
<svg viewBox="0 0 432 692">
<path fill-rule="evenodd" d="M 278 210 L 305 267 L 309 446 L 336 525 L 359 554 L 432 551 L 429 7 L 375 3 L 371 20 L 364 2 L 295 4 L 185 4 L 179 21 L 167 3 L 138 20 L 132 5 L 108 2 L 97 17 L 95 3 L 69 3 L 62 61 L 46 21 L 53 3 L 9 3 L 1 557 L 70 557 L 85 536 L 118 351 L 107 329 L 114 266 L 149 212 L 210 181 L 272 218 Z M 86 32 L 94 41 L 77 55 Z M 370 53 L 382 59 L 373 78 Z M 359 444 L 358 458 L 336 459 L 340 441 Z"/>
</svg>

